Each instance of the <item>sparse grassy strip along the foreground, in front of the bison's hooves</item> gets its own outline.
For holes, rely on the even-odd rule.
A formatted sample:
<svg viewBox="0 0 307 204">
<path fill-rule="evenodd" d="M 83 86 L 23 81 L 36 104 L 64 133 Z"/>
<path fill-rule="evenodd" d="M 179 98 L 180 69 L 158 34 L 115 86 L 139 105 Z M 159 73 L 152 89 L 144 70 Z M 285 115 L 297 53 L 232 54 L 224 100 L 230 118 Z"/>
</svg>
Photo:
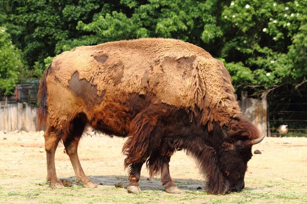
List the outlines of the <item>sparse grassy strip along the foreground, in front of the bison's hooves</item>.
<svg viewBox="0 0 307 204">
<path fill-rule="evenodd" d="M 255 182 L 254 182 L 255 181 Z M 134 203 L 134 204 L 306 204 L 307 192 L 295 182 L 247 181 L 257 187 L 247 187 L 241 192 L 225 195 L 207 194 L 205 190 L 182 190 L 181 194 L 168 194 L 163 187 L 143 190 L 138 194 L 128 194 L 124 188 L 100 186 L 88 189 L 79 185 L 52 190 L 49 183 L 35 181 L 29 188 L 0 187 L 0 203 L 31 201 L 38 204 L 84 204 L 84 203 Z M 246 182 L 246 183 L 247 183 Z M 42 185 L 39 185 L 41 183 Z"/>
</svg>

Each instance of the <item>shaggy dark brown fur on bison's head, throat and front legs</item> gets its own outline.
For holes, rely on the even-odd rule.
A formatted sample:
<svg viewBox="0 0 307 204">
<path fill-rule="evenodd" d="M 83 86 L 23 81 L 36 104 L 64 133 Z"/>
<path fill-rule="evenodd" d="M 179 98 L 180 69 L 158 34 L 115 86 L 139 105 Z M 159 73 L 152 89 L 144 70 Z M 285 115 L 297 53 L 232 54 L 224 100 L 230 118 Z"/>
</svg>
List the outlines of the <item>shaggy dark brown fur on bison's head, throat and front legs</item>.
<svg viewBox="0 0 307 204">
<path fill-rule="evenodd" d="M 160 117 L 160 121 L 155 119 L 159 113 L 151 110 L 155 113 L 153 120 L 144 116 L 142 123 L 133 124 L 136 133 L 128 138 L 123 147 L 127 155 L 125 166 L 143 157 L 148 158 L 147 167 L 150 176 L 153 176 L 161 173 L 165 158 L 171 157 L 175 151 L 185 150 L 197 160 L 200 172 L 206 178 L 207 192 L 218 194 L 241 190 L 244 187 L 247 162 L 252 158 L 251 146 L 243 145 L 242 141 L 247 140 L 246 134 L 258 137 L 255 126 L 238 117 L 232 119 L 232 124 L 237 124 L 235 130 L 214 123 L 213 131 L 208 132 L 207 127 L 200 123 L 200 113 L 161 106 L 164 106 L 159 108 L 164 111 L 160 112 L 164 118 Z M 150 125 L 154 125 L 154 129 L 148 128 Z M 225 142 L 236 146 L 232 150 L 225 149 Z"/>
</svg>

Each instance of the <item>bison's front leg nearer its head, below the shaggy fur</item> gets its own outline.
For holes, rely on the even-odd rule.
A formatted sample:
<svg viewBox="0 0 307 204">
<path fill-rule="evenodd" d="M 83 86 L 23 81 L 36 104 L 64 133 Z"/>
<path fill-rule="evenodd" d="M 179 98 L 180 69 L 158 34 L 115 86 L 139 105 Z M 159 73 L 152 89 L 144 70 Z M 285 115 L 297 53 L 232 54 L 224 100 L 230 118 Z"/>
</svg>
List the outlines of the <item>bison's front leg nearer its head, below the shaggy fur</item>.
<svg viewBox="0 0 307 204">
<path fill-rule="evenodd" d="M 162 171 L 161 171 L 161 183 L 165 185 L 165 191 L 167 193 L 181 193 L 177 185 L 173 182 L 170 175 L 169 162 L 171 157 L 166 156 L 163 158 Z"/>
</svg>

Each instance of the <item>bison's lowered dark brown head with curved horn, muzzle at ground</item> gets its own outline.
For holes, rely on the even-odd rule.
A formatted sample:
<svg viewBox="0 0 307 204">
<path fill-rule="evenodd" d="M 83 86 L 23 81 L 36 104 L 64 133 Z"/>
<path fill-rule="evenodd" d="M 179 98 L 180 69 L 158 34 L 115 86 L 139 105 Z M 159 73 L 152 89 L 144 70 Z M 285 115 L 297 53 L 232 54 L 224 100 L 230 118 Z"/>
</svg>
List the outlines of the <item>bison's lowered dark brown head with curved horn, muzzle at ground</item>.
<svg viewBox="0 0 307 204">
<path fill-rule="evenodd" d="M 236 118 L 228 127 L 215 125 L 213 128 L 213 147 L 216 154 L 217 169 L 211 172 L 207 181 L 210 193 L 227 193 L 244 188 L 247 162 L 252 158 L 252 146 L 261 142 L 256 127 L 249 121 Z"/>
</svg>

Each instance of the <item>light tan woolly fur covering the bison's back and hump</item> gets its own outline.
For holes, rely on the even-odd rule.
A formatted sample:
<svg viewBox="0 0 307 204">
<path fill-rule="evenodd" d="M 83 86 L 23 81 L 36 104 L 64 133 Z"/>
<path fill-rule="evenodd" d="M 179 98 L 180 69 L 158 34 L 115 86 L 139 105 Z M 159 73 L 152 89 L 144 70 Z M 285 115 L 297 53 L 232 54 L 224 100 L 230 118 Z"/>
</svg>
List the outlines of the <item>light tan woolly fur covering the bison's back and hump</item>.
<svg viewBox="0 0 307 204">
<path fill-rule="evenodd" d="M 65 69 L 61 69 L 65 67 Z M 228 124 L 240 109 L 223 63 L 204 49 L 173 39 L 138 39 L 80 46 L 52 62 L 53 76 L 64 87 L 77 72 L 104 97 L 154 94 L 178 108 L 203 111 L 202 123 Z"/>
</svg>

